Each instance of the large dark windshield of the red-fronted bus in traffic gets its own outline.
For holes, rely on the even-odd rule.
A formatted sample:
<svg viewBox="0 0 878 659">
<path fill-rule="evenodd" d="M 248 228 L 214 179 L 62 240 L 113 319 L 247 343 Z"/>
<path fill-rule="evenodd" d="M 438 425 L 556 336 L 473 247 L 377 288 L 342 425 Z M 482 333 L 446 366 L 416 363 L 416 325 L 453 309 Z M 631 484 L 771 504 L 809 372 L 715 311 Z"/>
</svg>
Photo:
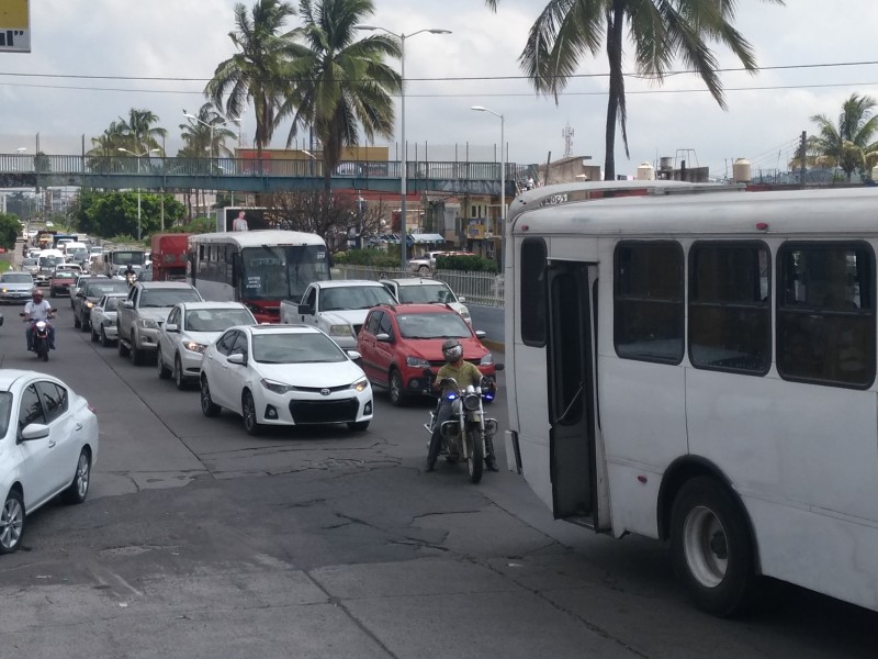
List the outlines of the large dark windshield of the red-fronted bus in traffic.
<svg viewBox="0 0 878 659">
<path fill-rule="evenodd" d="M 241 249 L 241 298 L 299 300 L 312 281 L 329 279 L 324 245 L 262 245 Z"/>
</svg>

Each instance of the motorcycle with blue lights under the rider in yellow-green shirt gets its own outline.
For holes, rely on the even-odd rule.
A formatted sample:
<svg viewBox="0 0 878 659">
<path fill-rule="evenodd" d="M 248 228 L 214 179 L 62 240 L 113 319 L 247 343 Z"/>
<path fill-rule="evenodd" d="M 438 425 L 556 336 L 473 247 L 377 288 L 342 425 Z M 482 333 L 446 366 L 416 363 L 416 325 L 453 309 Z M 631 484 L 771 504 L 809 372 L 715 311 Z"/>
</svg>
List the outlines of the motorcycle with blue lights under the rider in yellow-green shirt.
<svg viewBox="0 0 878 659">
<path fill-rule="evenodd" d="M 429 375 L 428 375 L 429 373 Z M 432 371 L 425 369 L 425 379 L 428 390 L 431 392 Z M 470 482 L 477 483 L 482 480 L 485 468 L 486 445 L 493 446 L 494 435 L 497 434 L 498 424 L 496 418 L 486 418 L 484 402 L 494 400 L 494 383 L 487 378 L 482 378 L 479 387 L 470 384 L 461 391 L 458 382 L 453 378 L 447 378 L 441 382 L 447 400 L 451 401 L 452 418 L 442 423 L 439 433 L 442 437 L 440 456 L 448 462 L 465 460 L 470 473 Z M 442 404 L 440 396 L 436 409 L 430 412 L 430 422 L 425 423 L 424 427 L 432 437 L 436 427 L 439 407 Z M 429 443 L 428 443 L 429 445 Z M 454 456 L 458 456 L 454 458 Z"/>
</svg>

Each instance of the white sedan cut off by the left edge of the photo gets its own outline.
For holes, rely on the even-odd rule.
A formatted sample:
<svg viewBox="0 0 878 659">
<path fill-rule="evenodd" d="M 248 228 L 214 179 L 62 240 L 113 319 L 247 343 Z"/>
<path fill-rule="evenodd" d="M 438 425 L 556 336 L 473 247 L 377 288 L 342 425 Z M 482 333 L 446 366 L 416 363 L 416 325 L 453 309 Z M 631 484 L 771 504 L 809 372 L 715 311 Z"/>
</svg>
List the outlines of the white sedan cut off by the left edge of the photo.
<svg viewBox="0 0 878 659">
<path fill-rule="evenodd" d="M 98 458 L 98 417 L 60 380 L 0 370 L 0 554 L 15 551 L 25 515 L 61 494 L 82 503 Z"/>
</svg>

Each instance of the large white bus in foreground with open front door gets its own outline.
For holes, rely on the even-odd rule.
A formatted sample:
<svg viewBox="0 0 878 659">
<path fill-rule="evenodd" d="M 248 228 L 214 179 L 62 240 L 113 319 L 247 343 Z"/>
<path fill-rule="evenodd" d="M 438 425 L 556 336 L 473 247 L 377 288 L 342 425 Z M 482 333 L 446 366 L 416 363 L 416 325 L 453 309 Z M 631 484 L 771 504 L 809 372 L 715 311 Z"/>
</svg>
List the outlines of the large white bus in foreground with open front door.
<svg viewBox="0 0 878 659">
<path fill-rule="evenodd" d="M 513 202 L 509 467 L 556 518 L 669 540 L 714 614 L 759 576 L 878 610 L 878 188 L 716 188 Z"/>
</svg>

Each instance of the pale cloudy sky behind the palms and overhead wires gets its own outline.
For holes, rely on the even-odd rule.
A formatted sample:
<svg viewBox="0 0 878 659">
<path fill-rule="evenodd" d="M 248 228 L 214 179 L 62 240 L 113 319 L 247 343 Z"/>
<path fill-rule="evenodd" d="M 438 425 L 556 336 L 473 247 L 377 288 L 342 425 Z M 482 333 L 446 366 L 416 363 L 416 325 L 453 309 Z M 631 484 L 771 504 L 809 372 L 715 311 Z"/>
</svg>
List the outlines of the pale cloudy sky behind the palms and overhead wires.
<svg viewBox="0 0 878 659">
<path fill-rule="evenodd" d="M 498 160 L 502 133 L 507 160 L 544 163 L 565 155 L 603 165 L 607 63 L 586 56 L 555 102 L 538 97 L 521 74 L 518 56 L 543 0 L 500 0 L 492 13 L 483 0 L 374 0 L 369 24 L 405 42 L 405 137 L 409 159 Z M 252 0 L 244 2 L 252 5 Z M 293 2 L 297 5 L 297 2 Z M 181 146 L 183 109 L 196 112 L 216 65 L 234 53 L 234 0 L 31 0 L 31 53 L 0 53 L 0 154 L 26 148 L 37 134 L 46 154 L 78 155 L 110 122 L 131 108 L 151 110 L 168 129 L 166 149 Z M 843 8 L 843 11 L 842 11 Z M 291 19 L 289 26 L 297 24 Z M 663 85 L 626 77 L 626 158 L 617 135 L 616 171 L 633 175 L 643 161 L 671 157 L 687 167 L 731 175 L 736 158 L 758 170 L 786 170 L 811 116 L 835 121 L 853 93 L 878 98 L 878 25 L 875 0 L 787 0 L 786 7 L 739 0 L 734 22 L 751 42 L 758 75 L 721 74 L 728 108 L 721 109 L 700 79 L 679 74 Z M 414 34 L 443 29 L 451 34 Z M 368 33 L 364 33 L 368 34 Z M 630 48 L 629 48 L 630 52 Z M 722 68 L 740 63 L 717 46 Z M 398 62 L 396 63 L 398 70 Z M 633 71 L 630 59 L 623 67 Z M 474 112 L 489 108 L 498 116 Z M 389 145 L 398 157 L 396 132 Z M 252 108 L 241 118 L 241 141 L 252 143 Z M 234 124 L 233 124 L 234 125 Z M 282 148 L 289 125 L 272 147 Z M 297 146 L 306 147 L 304 143 Z"/>
</svg>

